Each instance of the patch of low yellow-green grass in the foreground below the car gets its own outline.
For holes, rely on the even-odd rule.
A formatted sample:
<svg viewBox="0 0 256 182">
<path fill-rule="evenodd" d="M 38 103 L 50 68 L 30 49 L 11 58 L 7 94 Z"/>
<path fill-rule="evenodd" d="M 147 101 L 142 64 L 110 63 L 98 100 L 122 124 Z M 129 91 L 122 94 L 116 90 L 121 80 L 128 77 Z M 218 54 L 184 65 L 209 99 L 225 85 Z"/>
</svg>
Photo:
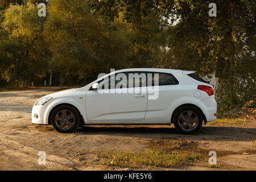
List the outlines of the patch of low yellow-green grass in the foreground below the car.
<svg viewBox="0 0 256 182">
<path fill-rule="evenodd" d="M 199 155 L 184 151 L 180 146 L 187 144 L 184 140 L 164 139 L 146 150 L 139 151 L 101 151 L 100 164 L 115 167 L 141 167 L 142 165 L 154 167 L 173 167 L 191 165 L 196 160 L 201 160 Z M 160 145 L 161 143 L 161 145 Z"/>
</svg>

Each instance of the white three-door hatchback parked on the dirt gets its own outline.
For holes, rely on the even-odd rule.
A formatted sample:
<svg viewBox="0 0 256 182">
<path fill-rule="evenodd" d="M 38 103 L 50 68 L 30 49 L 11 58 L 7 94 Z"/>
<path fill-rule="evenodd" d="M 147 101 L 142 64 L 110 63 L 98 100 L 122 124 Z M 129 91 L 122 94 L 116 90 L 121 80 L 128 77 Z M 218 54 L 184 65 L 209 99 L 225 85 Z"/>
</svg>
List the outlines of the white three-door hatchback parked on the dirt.
<svg viewBox="0 0 256 182">
<path fill-rule="evenodd" d="M 213 86 L 175 69 L 122 69 L 40 98 L 32 123 L 72 133 L 84 125 L 171 125 L 193 134 L 216 119 Z M 139 76 L 139 78 L 138 78 Z M 126 79 L 127 78 L 127 79 Z M 138 78 L 138 79 L 137 79 Z"/>
</svg>

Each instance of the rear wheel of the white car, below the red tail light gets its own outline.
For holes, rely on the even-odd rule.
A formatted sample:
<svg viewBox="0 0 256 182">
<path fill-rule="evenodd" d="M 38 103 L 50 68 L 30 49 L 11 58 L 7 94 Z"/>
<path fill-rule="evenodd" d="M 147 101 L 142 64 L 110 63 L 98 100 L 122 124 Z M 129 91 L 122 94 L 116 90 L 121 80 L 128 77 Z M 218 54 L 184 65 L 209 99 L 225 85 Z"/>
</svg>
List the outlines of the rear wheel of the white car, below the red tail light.
<svg viewBox="0 0 256 182">
<path fill-rule="evenodd" d="M 174 126 L 176 130 L 182 134 L 195 134 L 197 131 L 199 131 L 202 124 L 202 114 L 198 109 L 192 106 L 181 107 L 174 115 Z"/>
</svg>

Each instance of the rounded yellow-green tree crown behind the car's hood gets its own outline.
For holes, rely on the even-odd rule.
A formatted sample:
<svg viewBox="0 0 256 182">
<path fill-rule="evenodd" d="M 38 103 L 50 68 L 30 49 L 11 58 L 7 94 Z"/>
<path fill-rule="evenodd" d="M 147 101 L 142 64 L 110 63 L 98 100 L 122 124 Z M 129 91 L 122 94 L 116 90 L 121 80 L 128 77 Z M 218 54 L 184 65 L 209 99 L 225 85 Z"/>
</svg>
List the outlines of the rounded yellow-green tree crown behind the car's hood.
<svg viewBox="0 0 256 182">
<path fill-rule="evenodd" d="M 44 36 L 52 53 L 51 68 L 70 82 L 88 76 L 86 70 L 100 60 L 95 52 L 100 23 L 82 1 L 54 1 L 47 10 Z"/>
</svg>

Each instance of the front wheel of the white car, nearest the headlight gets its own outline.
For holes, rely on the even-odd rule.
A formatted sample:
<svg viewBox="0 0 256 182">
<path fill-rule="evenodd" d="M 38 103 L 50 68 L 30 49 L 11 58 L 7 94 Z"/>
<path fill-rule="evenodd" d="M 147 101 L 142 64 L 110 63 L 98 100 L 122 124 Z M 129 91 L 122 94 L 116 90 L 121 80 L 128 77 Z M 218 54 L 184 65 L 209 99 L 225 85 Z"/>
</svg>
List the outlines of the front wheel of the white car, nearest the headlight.
<svg viewBox="0 0 256 182">
<path fill-rule="evenodd" d="M 60 133 L 73 133 L 80 126 L 79 113 L 70 105 L 61 105 L 53 110 L 51 124 Z"/>
</svg>

